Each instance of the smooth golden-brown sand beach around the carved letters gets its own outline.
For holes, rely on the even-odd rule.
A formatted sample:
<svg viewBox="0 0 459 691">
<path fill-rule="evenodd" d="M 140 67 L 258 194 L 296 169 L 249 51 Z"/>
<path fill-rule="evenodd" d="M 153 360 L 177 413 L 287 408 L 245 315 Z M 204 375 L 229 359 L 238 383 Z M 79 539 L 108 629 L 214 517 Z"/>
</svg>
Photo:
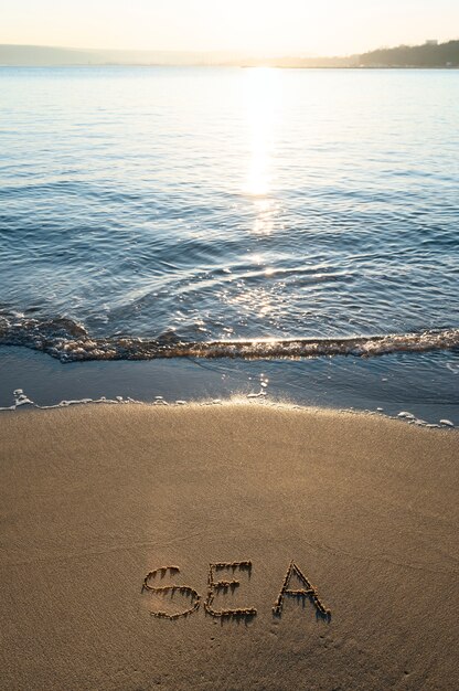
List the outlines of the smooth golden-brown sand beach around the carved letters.
<svg viewBox="0 0 459 691">
<path fill-rule="evenodd" d="M 1 415 L 0 688 L 459 689 L 458 451 L 256 403 Z M 310 596 L 274 616 L 291 560 L 330 620 Z M 207 608 L 256 616 L 206 614 L 210 563 L 239 561 Z M 191 592 L 142 592 L 172 565 L 149 588 L 201 596 L 173 620 L 150 612 Z"/>
</svg>

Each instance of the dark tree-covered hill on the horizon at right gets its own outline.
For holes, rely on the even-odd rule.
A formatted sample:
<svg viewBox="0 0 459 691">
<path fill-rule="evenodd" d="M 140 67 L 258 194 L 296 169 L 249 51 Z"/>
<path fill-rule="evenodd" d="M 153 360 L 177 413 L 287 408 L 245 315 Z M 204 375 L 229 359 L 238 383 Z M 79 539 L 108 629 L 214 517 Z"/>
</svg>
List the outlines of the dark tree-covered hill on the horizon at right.
<svg viewBox="0 0 459 691">
<path fill-rule="evenodd" d="M 459 67 L 459 41 L 399 45 L 360 55 L 363 67 Z"/>
</svg>

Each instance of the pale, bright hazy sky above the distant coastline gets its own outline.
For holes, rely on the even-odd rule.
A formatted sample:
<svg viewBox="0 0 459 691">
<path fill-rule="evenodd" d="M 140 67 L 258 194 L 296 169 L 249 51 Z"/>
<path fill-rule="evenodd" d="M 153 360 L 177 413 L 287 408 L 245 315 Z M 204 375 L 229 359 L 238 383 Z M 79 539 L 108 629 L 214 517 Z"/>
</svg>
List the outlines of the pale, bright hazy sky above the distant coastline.
<svg viewBox="0 0 459 691">
<path fill-rule="evenodd" d="M 0 43 L 346 54 L 459 38 L 459 0 L 1 0 Z"/>
</svg>

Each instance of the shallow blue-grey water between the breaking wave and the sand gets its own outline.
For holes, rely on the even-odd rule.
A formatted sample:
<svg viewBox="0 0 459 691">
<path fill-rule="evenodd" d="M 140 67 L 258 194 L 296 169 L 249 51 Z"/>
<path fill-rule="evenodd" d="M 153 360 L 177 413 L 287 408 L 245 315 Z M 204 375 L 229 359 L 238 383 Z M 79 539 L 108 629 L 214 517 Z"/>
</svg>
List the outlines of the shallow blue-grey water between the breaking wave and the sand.
<svg viewBox="0 0 459 691">
<path fill-rule="evenodd" d="M 455 353 L 397 354 L 377 359 L 334 357 L 307 360 L 236 361 L 194 359 L 75 362 L 3 347 L 0 408 L 14 405 L 15 390 L 39 406 L 62 401 L 135 400 L 228 402 L 265 398 L 290 405 L 353 410 L 438 425 L 459 426 Z"/>
</svg>

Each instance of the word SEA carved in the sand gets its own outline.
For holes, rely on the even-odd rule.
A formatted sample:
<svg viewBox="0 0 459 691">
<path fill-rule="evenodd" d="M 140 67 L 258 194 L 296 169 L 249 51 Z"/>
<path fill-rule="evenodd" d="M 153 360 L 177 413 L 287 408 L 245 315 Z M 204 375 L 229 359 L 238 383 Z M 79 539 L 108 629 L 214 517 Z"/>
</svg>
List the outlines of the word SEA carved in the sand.
<svg viewBox="0 0 459 691">
<path fill-rule="evenodd" d="M 234 593 L 234 591 L 239 586 L 239 581 L 234 577 L 228 577 L 230 574 L 234 576 L 236 571 L 245 571 L 250 576 L 252 562 L 216 562 L 209 565 L 207 596 L 204 600 L 204 610 L 206 614 L 211 615 L 212 617 L 227 619 L 252 619 L 256 617 L 257 610 L 255 609 L 255 607 L 242 607 L 236 609 L 215 609 L 214 607 L 214 600 L 216 595 L 225 594 L 228 591 Z M 185 609 L 179 612 L 168 613 L 160 609 L 154 609 L 150 610 L 150 614 L 153 617 L 162 619 L 179 619 L 180 617 L 188 617 L 194 612 L 198 612 L 202 598 L 198 591 L 195 591 L 190 585 L 154 585 L 154 583 L 157 583 L 158 576 L 162 578 L 168 572 L 171 575 L 175 575 L 180 573 L 180 568 L 178 566 L 160 566 L 159 568 L 150 571 L 143 578 L 141 592 L 147 592 L 159 596 L 170 595 L 171 598 L 173 598 L 175 594 L 179 594 L 184 599 L 189 600 L 188 606 Z M 226 578 L 223 578 L 224 575 L 226 575 Z M 292 578 L 296 580 L 296 582 L 299 584 L 299 587 L 290 587 L 290 582 Z M 303 603 L 306 599 L 309 599 L 316 607 L 317 615 L 330 621 L 330 609 L 325 608 L 325 606 L 319 598 L 316 586 L 310 584 L 308 578 L 305 576 L 302 571 L 299 568 L 299 566 L 297 566 L 295 562 L 290 562 L 287 568 L 280 593 L 273 606 L 273 616 L 281 616 L 286 597 L 295 597 L 297 600 Z"/>
</svg>

